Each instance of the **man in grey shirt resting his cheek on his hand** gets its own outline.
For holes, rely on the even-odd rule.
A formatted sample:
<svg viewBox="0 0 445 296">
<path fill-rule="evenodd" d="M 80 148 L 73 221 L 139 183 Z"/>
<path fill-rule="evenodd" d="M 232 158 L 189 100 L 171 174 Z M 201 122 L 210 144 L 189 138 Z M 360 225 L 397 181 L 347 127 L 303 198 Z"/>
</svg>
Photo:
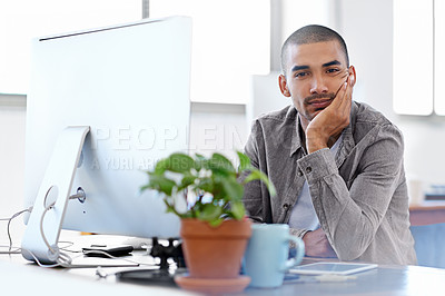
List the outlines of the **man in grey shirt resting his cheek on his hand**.
<svg viewBox="0 0 445 296">
<path fill-rule="evenodd" d="M 343 38 L 322 26 L 281 49 L 281 93 L 293 105 L 257 119 L 245 151 L 277 188 L 245 188 L 249 216 L 289 224 L 306 255 L 416 264 L 400 131 L 352 100 L 356 71 Z"/>
</svg>

